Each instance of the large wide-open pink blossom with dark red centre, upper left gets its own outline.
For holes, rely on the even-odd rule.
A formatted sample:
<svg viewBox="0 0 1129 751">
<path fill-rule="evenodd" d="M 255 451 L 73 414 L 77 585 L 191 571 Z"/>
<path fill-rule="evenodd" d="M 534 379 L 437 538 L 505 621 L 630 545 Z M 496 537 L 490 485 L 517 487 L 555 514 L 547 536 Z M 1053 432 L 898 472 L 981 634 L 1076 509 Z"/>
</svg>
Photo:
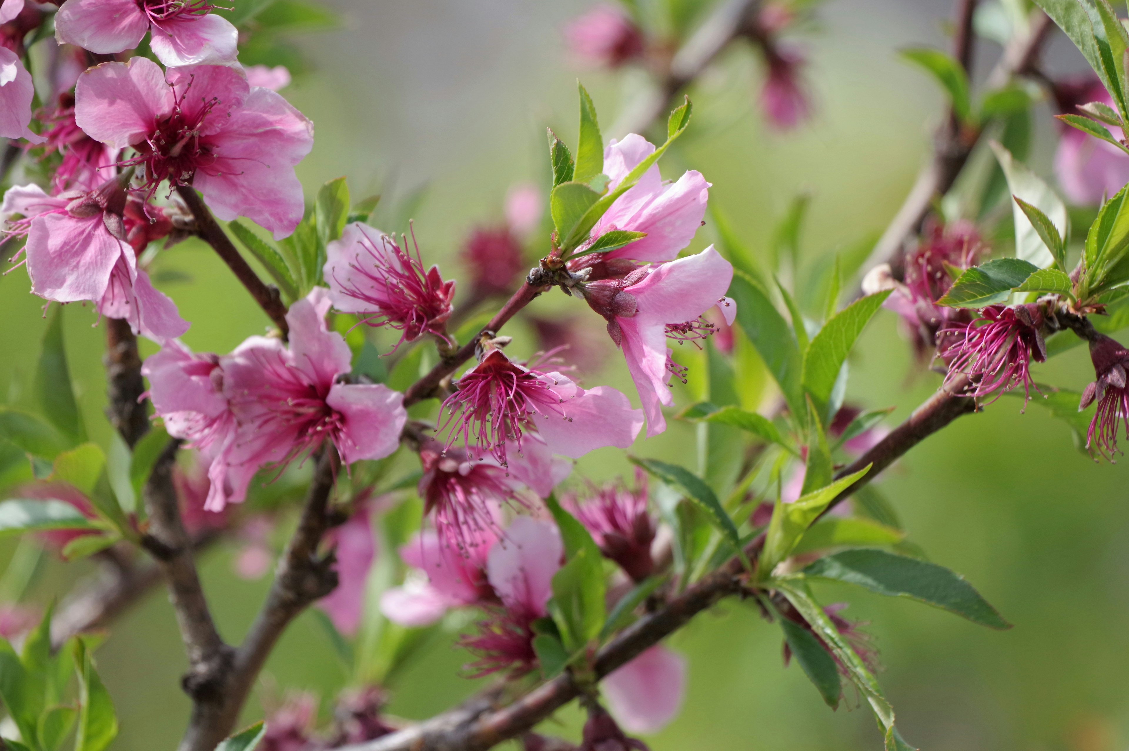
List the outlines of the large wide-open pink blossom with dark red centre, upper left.
<svg viewBox="0 0 1129 751">
<path fill-rule="evenodd" d="M 75 0 L 69 0 L 73 2 Z M 89 69 L 76 87 L 76 121 L 95 140 L 132 147 L 124 164 L 145 166 L 149 191 L 167 180 L 192 185 L 217 217 L 243 216 L 275 239 L 301 220 L 294 167 L 314 143 L 314 126 L 274 91 L 252 89 L 220 66 L 165 73 L 146 58 Z"/>
</svg>

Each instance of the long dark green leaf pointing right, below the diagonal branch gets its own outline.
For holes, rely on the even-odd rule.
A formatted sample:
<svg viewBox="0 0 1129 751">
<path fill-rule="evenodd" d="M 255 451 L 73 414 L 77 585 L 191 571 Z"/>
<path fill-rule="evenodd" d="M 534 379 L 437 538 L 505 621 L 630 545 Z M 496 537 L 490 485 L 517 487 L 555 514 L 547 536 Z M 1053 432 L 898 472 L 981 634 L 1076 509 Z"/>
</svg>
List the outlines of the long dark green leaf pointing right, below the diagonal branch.
<svg viewBox="0 0 1129 751">
<path fill-rule="evenodd" d="M 892 597 L 910 597 L 994 629 L 1012 625 L 963 576 L 944 566 L 885 550 L 844 550 L 804 569 L 807 577 L 834 579 Z"/>
</svg>

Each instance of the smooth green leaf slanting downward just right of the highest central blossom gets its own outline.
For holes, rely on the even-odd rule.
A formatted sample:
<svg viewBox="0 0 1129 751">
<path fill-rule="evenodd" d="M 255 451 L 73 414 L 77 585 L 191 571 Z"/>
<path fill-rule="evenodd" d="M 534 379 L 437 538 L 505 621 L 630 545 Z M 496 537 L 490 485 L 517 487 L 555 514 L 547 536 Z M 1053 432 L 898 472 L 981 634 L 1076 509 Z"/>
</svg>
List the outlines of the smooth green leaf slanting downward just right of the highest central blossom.
<svg viewBox="0 0 1129 751">
<path fill-rule="evenodd" d="M 788 409 L 799 418 L 805 410 L 800 391 L 803 359 L 791 328 L 772 305 L 768 292 L 739 270 L 734 270 L 729 297 L 737 302 L 737 323 L 741 330 L 776 378 Z"/>
</svg>

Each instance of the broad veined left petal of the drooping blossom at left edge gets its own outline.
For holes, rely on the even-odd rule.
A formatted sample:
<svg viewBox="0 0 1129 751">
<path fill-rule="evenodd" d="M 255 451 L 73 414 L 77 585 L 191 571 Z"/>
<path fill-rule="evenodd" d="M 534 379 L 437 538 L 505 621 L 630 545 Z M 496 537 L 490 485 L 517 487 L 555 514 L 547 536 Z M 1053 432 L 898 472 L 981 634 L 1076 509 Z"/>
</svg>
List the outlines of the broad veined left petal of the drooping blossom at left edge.
<svg viewBox="0 0 1129 751">
<path fill-rule="evenodd" d="M 102 215 L 49 213 L 32 221 L 27 273 L 32 291 L 60 303 L 100 300 L 119 259 L 131 248 L 110 234 Z"/>
</svg>

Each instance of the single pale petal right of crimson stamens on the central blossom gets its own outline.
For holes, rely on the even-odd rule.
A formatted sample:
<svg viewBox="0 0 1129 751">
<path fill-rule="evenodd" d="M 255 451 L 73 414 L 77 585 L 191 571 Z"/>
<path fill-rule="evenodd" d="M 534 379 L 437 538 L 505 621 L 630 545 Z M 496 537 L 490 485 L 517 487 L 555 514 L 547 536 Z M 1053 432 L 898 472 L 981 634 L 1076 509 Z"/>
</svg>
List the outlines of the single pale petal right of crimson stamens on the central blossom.
<svg viewBox="0 0 1129 751">
<path fill-rule="evenodd" d="M 541 414 L 534 418 L 537 431 L 554 454 L 580 459 L 605 446 L 627 448 L 642 428 L 642 410 L 631 409 L 628 398 L 611 386 L 578 388 L 561 407 L 567 419 Z"/>
</svg>

